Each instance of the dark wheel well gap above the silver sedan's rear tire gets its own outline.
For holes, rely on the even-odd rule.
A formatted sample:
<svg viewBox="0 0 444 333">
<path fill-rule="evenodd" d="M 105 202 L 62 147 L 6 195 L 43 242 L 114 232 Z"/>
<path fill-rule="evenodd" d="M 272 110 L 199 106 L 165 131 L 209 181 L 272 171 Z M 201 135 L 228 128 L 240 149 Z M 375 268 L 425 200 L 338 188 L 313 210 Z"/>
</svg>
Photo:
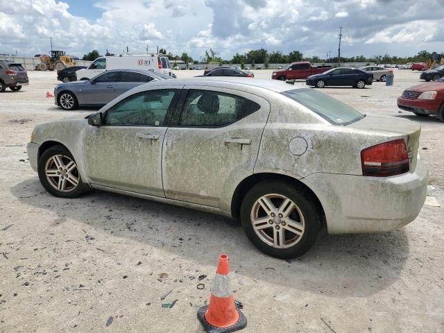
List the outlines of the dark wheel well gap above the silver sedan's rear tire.
<svg viewBox="0 0 444 333">
<path fill-rule="evenodd" d="M 285 182 L 286 184 L 293 184 L 299 189 L 302 189 L 302 191 L 305 191 L 306 194 L 311 196 L 311 199 L 315 201 L 316 205 L 318 205 L 319 209 L 321 210 L 322 221 L 323 221 L 322 223 L 323 225 L 325 225 L 324 209 L 321 205 L 321 201 L 319 201 L 316 194 L 314 194 L 314 191 L 311 191 L 311 189 L 307 187 L 307 185 L 305 185 L 303 182 L 300 182 L 295 178 L 291 178 L 290 176 L 285 176 L 285 175 L 279 175 L 277 173 L 255 173 L 245 178 L 240 182 L 239 185 L 237 185 L 237 188 L 234 190 L 234 194 L 231 200 L 231 212 L 232 216 L 235 219 L 239 219 L 241 212 L 241 204 L 242 200 L 244 199 L 244 196 L 246 196 L 247 192 L 254 185 L 264 180 L 279 180 L 281 182 Z"/>
</svg>

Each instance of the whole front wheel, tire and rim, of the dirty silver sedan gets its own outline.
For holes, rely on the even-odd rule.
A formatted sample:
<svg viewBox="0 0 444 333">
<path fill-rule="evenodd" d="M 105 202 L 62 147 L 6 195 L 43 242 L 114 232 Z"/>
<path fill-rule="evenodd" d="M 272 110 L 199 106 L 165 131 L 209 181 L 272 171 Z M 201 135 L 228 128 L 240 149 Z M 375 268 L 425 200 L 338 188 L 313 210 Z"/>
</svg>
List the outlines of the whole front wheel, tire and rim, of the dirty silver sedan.
<svg viewBox="0 0 444 333">
<path fill-rule="evenodd" d="M 77 198 L 86 191 L 76 161 L 64 146 L 52 146 L 44 151 L 37 171 L 43 187 L 53 196 Z"/>
</svg>

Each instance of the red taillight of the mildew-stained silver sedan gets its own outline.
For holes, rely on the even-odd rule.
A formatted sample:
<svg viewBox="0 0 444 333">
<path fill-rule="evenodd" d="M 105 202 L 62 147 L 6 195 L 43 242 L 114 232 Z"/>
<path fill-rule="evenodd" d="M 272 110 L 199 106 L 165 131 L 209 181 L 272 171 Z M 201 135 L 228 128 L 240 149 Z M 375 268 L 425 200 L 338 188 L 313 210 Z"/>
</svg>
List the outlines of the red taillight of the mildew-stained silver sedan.
<svg viewBox="0 0 444 333">
<path fill-rule="evenodd" d="M 409 154 L 404 139 L 384 142 L 361 151 L 364 176 L 388 177 L 409 172 Z"/>
</svg>

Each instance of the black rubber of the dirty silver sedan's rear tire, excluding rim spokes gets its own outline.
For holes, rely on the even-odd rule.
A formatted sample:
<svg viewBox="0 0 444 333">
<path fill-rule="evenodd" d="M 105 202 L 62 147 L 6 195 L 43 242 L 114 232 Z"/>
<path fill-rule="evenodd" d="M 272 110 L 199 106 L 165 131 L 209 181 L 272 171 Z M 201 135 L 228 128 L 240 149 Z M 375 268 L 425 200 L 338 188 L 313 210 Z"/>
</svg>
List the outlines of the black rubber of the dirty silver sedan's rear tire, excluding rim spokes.
<svg viewBox="0 0 444 333">
<path fill-rule="evenodd" d="M 300 211 L 302 213 L 295 213 L 295 208 L 291 210 L 291 214 L 295 213 L 296 216 L 299 216 L 299 218 L 295 218 L 291 214 L 289 215 L 292 216 L 293 222 L 297 221 L 298 219 L 299 221 L 303 221 L 302 224 L 304 225 L 304 227 L 302 235 L 300 236 L 288 231 L 287 228 L 289 228 L 290 225 L 287 225 L 287 223 L 282 224 L 284 223 L 284 221 L 286 221 L 285 218 L 282 218 L 282 220 L 280 218 L 278 219 L 278 216 L 275 216 L 275 218 L 271 218 L 268 217 L 266 214 L 265 216 L 258 217 L 258 219 L 273 219 L 266 222 L 266 227 L 264 229 L 258 231 L 259 234 L 262 234 L 261 237 L 267 237 L 267 234 L 271 237 L 270 234 L 274 234 L 275 229 L 280 230 L 280 228 L 282 228 L 282 230 L 285 230 L 284 241 L 296 242 L 293 245 L 291 245 L 291 243 L 288 244 L 291 245 L 288 248 L 276 248 L 275 246 L 266 243 L 266 241 L 259 237 L 259 234 L 257 234 L 253 228 L 251 214 L 259 214 L 260 208 L 259 210 L 257 210 L 256 208 L 258 205 L 258 200 L 259 198 L 262 198 L 266 195 L 278 195 L 289 198 L 291 201 L 293 201 L 296 207 L 298 207 L 298 212 Z M 273 202 L 273 204 L 278 207 L 280 205 L 279 200 L 282 200 L 282 203 L 284 198 L 272 198 L 271 200 L 278 200 Z M 265 210 L 263 210 L 262 212 L 265 212 Z M 303 216 L 303 220 L 301 216 Z M 259 182 L 257 185 L 252 187 L 244 197 L 241 205 L 241 224 L 248 239 L 250 239 L 250 241 L 256 248 L 261 250 L 266 255 L 282 259 L 299 257 L 300 255 L 306 253 L 309 248 L 311 248 L 311 246 L 314 244 L 314 241 L 316 241 L 316 237 L 320 229 L 319 227 L 321 226 L 321 216 L 321 208 L 317 204 L 317 201 L 311 196 L 311 194 L 308 193 L 307 190 L 303 189 L 302 187 L 297 187 L 295 185 L 289 185 L 284 182 L 273 180 Z M 284 227 L 284 225 L 287 225 L 287 227 Z M 282 230 L 280 230 L 280 232 L 282 232 Z M 294 235 L 293 238 L 291 238 L 292 235 Z M 268 241 L 271 242 L 271 240 Z"/>
</svg>

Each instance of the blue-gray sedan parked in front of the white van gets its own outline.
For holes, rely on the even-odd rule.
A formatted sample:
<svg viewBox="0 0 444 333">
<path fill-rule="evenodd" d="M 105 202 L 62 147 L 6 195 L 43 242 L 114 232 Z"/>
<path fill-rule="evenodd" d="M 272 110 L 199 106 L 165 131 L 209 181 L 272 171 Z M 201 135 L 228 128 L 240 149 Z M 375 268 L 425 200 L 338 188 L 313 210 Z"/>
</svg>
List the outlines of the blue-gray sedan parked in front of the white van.
<svg viewBox="0 0 444 333">
<path fill-rule="evenodd" d="M 74 110 L 78 106 L 101 107 L 138 85 L 171 79 L 171 76 L 145 69 L 114 69 L 94 76 L 91 80 L 57 85 L 54 89 L 54 103 L 63 110 Z"/>
</svg>

